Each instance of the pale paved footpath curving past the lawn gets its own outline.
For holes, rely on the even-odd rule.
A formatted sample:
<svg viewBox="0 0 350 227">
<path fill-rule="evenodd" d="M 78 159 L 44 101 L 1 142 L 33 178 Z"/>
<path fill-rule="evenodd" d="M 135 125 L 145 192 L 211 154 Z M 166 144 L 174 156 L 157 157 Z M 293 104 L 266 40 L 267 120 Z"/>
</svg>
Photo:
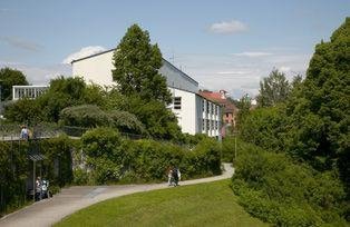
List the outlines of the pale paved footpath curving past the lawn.
<svg viewBox="0 0 350 227">
<path fill-rule="evenodd" d="M 221 176 L 181 181 L 181 185 L 195 185 L 227 179 L 234 174 L 230 164 L 224 164 Z M 64 188 L 50 199 L 43 199 L 0 219 L 1 227 L 51 226 L 64 217 L 93 204 L 134 193 L 168 188 L 166 182 L 150 185 L 119 186 L 74 186 Z"/>
</svg>

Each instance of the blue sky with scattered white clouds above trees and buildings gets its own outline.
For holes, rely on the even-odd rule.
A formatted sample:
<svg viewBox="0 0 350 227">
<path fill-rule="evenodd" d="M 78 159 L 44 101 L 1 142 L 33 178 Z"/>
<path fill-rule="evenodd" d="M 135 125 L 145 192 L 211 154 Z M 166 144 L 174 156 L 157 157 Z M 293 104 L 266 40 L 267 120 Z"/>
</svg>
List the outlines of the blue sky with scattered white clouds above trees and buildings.
<svg viewBox="0 0 350 227">
<path fill-rule="evenodd" d="M 254 97 L 273 69 L 304 76 L 314 46 L 346 17 L 349 0 L 0 0 L 0 68 L 47 85 L 138 23 L 202 89 Z"/>
</svg>

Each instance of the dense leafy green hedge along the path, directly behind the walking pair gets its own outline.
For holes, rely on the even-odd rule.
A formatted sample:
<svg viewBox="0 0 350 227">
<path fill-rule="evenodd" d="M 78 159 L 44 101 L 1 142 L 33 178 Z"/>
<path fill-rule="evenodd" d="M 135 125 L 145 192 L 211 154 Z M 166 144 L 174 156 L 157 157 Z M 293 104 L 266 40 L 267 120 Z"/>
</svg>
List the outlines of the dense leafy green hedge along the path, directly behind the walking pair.
<svg viewBox="0 0 350 227">
<path fill-rule="evenodd" d="M 86 132 L 81 142 L 90 182 L 165 180 L 171 166 L 179 167 L 184 179 L 221 174 L 220 146 L 212 139 L 188 150 L 148 139 L 121 139 L 114 129 L 97 128 Z"/>
</svg>

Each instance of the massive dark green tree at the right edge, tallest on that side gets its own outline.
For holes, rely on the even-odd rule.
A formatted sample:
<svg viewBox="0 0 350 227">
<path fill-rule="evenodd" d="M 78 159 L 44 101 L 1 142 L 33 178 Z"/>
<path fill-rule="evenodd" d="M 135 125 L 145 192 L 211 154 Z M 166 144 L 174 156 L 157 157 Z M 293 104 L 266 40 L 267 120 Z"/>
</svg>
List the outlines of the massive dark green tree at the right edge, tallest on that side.
<svg viewBox="0 0 350 227">
<path fill-rule="evenodd" d="M 288 105 L 290 152 L 321 169 L 338 164 L 350 184 L 350 18 L 317 45 L 307 78 Z"/>
</svg>

